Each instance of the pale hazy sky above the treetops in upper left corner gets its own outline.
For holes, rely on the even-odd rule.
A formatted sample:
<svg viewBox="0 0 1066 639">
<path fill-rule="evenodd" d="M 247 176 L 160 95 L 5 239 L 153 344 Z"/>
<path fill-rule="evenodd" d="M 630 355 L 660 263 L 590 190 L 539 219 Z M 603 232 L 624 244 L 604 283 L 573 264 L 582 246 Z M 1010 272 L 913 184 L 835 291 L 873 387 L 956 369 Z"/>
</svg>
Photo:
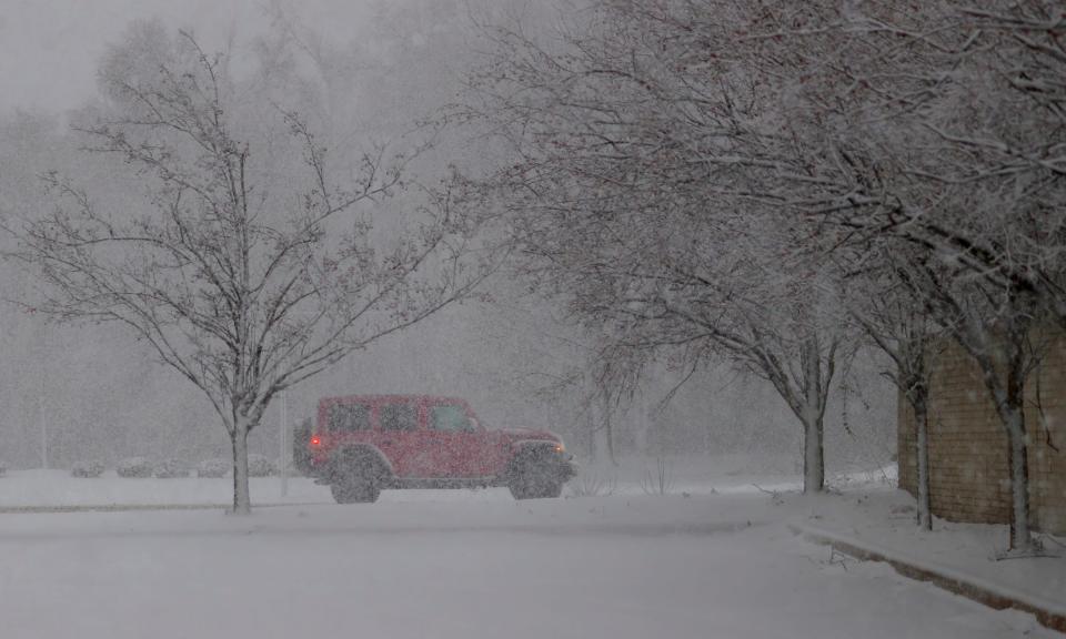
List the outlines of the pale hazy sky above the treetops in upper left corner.
<svg viewBox="0 0 1066 639">
<path fill-rule="evenodd" d="M 192 28 L 207 49 L 264 24 L 266 0 L 0 0 L 0 112 L 63 111 L 95 90 L 97 61 L 134 19 Z M 369 0 L 292 2 L 334 34 Z"/>
</svg>

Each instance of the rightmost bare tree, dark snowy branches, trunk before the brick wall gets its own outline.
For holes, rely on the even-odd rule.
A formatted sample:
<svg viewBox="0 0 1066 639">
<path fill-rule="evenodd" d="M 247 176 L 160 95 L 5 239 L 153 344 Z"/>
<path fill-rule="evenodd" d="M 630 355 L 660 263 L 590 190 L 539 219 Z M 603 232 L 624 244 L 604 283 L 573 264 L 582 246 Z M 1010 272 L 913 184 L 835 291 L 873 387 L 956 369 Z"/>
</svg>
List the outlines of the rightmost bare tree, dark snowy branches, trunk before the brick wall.
<svg viewBox="0 0 1066 639">
<path fill-rule="evenodd" d="M 908 286 L 982 371 L 1010 448 L 1019 551 L 1033 548 L 1023 396 L 1034 332 L 1063 316 L 1060 14 L 1039 0 L 882 0 L 787 29 L 782 44 L 821 51 L 803 102 L 859 168 L 855 192 L 822 214 L 848 241 L 916 253 Z"/>
</svg>

